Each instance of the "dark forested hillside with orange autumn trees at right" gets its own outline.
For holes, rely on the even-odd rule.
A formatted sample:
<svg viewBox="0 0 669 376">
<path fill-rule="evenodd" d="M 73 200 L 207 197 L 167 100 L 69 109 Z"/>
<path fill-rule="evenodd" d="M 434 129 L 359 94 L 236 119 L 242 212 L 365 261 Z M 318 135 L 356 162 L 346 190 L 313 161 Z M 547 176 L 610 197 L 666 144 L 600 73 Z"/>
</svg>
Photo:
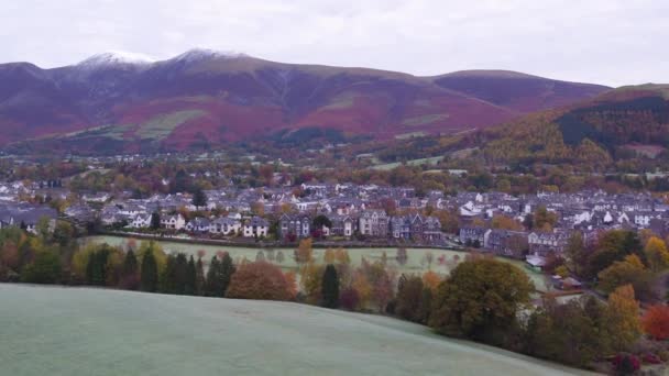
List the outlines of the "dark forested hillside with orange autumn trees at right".
<svg viewBox="0 0 669 376">
<path fill-rule="evenodd" d="M 623 87 L 478 132 L 395 142 L 376 155 L 384 162 L 447 156 L 457 163 L 465 154 L 469 162 L 512 169 L 533 164 L 585 170 L 652 168 L 668 157 L 668 87 Z"/>
</svg>

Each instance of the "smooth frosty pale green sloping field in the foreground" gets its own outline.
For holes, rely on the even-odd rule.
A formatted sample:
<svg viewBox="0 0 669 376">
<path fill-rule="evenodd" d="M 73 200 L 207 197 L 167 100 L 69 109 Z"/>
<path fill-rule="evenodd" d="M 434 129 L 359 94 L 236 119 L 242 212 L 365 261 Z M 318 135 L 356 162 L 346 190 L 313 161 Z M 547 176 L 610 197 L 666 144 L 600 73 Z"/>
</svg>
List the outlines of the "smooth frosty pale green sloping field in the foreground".
<svg viewBox="0 0 669 376">
<path fill-rule="evenodd" d="M 0 284 L 2 375 L 567 375 L 385 317 Z"/>
</svg>

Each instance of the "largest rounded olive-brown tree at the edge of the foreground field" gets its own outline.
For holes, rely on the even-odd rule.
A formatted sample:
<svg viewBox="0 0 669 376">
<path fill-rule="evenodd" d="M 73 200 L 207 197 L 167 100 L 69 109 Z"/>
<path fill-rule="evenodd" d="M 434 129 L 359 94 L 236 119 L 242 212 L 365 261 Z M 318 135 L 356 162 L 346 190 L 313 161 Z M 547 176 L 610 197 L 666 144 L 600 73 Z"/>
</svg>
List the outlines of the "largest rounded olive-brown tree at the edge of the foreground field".
<svg viewBox="0 0 669 376">
<path fill-rule="evenodd" d="M 487 331 L 512 327 L 533 290 L 516 266 L 493 258 L 465 261 L 439 285 L 429 325 L 442 334 L 484 339 Z"/>
</svg>

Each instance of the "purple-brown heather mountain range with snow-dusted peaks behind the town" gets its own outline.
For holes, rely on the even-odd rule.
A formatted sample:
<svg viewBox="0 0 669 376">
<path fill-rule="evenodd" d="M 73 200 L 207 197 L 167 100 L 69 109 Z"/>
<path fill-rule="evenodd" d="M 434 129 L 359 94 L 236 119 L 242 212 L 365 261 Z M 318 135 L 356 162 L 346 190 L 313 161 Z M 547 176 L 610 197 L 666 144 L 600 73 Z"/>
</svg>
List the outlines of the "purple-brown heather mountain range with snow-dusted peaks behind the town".
<svg viewBox="0 0 669 376">
<path fill-rule="evenodd" d="M 210 148 L 314 129 L 332 131 L 332 142 L 451 134 L 607 89 L 522 74 L 416 77 L 206 49 L 163 62 L 101 54 L 55 69 L 0 65 L 0 147 Z"/>
</svg>

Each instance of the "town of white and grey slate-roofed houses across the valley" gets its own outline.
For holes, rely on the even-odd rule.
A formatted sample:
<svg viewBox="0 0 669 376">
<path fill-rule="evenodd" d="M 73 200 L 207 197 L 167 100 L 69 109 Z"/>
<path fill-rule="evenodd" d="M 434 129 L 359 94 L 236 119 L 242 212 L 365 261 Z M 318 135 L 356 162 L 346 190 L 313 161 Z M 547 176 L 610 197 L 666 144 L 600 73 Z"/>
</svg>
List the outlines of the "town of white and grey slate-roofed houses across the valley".
<svg viewBox="0 0 669 376">
<path fill-rule="evenodd" d="M 292 245 L 312 237 L 341 245 L 467 247 L 526 259 L 538 268 L 547 257 L 560 255 L 574 232 L 585 245 L 616 229 L 649 230 L 661 237 L 669 233 L 669 204 L 641 192 L 514 197 L 494 191 L 446 196 L 432 190 L 417 196 L 410 187 L 308 183 L 156 193 L 146 199 L 131 198 L 131 192 L 99 191 L 76 200 L 73 196 L 54 181 L 2 184 L 0 228 L 20 225 L 34 232 L 41 219 L 53 224 L 62 218 L 97 223 L 105 232 L 242 245 Z M 47 203 L 24 201 L 34 197 L 68 203 L 57 208 L 59 212 Z"/>
</svg>

